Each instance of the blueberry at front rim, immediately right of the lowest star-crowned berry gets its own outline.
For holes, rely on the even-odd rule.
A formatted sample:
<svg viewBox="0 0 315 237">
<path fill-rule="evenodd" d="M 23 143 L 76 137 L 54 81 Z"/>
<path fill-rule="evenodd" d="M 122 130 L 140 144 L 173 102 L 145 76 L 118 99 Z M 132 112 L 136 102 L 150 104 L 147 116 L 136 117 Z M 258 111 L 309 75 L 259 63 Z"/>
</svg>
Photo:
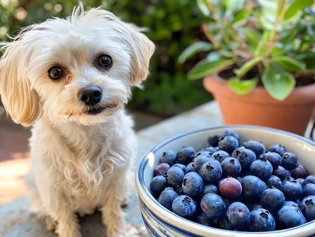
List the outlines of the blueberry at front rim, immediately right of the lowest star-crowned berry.
<svg viewBox="0 0 315 237">
<path fill-rule="evenodd" d="M 281 229 L 288 229 L 305 224 L 306 219 L 298 207 L 283 206 L 278 211 L 278 223 Z"/>
</svg>

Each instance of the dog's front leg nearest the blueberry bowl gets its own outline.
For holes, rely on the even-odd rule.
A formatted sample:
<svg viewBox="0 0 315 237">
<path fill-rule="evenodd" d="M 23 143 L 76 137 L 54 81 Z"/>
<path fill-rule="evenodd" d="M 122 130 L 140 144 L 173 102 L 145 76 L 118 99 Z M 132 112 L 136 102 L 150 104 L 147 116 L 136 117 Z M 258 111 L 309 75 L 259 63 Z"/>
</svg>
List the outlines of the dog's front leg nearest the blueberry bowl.
<svg viewBox="0 0 315 237">
<path fill-rule="evenodd" d="M 123 172 L 123 171 L 122 171 Z M 107 237 L 127 237 L 121 204 L 124 194 L 125 176 L 113 177 L 109 189 L 106 190 L 105 203 L 101 206 L 102 221 L 107 228 Z"/>
</svg>

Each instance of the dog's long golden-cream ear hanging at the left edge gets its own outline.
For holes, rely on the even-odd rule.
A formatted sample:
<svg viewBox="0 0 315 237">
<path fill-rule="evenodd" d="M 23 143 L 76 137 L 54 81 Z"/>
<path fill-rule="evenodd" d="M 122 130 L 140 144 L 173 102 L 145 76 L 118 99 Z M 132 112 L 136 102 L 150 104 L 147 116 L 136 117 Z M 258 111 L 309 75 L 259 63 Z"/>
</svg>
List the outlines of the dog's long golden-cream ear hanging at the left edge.
<svg viewBox="0 0 315 237">
<path fill-rule="evenodd" d="M 5 52 L 0 59 L 0 94 L 12 120 L 30 126 L 42 116 L 40 98 L 27 76 L 31 54 L 23 38 L 2 42 Z"/>
</svg>

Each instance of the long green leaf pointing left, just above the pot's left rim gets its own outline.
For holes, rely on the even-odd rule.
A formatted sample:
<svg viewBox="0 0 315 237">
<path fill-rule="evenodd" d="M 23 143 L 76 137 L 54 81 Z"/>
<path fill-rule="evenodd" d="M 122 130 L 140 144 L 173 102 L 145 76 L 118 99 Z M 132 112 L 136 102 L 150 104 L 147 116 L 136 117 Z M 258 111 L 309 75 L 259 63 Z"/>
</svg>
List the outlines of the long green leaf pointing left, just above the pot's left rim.
<svg viewBox="0 0 315 237">
<path fill-rule="evenodd" d="M 216 61 L 203 59 L 188 72 L 187 77 L 189 80 L 197 80 L 214 72 L 220 71 L 226 66 L 233 65 L 234 63 L 235 62 L 232 59 L 219 59 Z"/>
</svg>

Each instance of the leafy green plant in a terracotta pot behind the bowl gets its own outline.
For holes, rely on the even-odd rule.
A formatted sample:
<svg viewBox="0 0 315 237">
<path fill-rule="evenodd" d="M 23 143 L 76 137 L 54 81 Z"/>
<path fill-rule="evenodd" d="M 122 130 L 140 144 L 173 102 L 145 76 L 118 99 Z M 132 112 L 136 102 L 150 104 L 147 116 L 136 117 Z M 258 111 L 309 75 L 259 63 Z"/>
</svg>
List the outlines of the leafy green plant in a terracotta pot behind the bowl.
<svg viewBox="0 0 315 237">
<path fill-rule="evenodd" d="M 313 0 L 197 0 L 209 42 L 178 61 L 209 52 L 187 74 L 203 78 L 227 124 L 303 135 L 315 106 Z"/>
</svg>

